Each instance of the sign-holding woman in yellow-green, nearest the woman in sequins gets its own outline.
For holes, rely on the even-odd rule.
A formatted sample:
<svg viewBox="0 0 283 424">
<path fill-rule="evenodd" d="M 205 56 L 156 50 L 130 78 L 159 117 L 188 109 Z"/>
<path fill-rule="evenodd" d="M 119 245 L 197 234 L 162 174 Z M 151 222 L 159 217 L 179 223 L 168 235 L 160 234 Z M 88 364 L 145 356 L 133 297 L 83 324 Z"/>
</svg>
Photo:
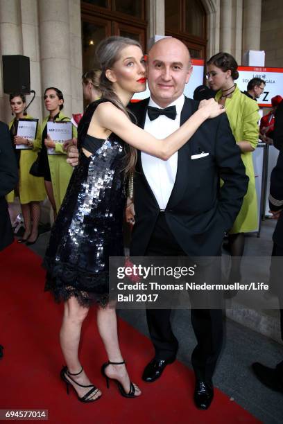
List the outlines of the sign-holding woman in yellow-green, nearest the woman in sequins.
<svg viewBox="0 0 283 424">
<path fill-rule="evenodd" d="M 70 118 L 61 112 L 64 105 L 62 91 L 55 87 L 47 88 L 44 91 L 44 103 L 49 116 L 42 123 L 41 143 L 38 147 L 42 149 L 40 166 L 55 219 L 72 174 L 63 149 L 63 142 L 67 140 L 64 136 L 69 134 L 69 139 L 76 137 L 76 128 L 71 125 Z"/>
</svg>

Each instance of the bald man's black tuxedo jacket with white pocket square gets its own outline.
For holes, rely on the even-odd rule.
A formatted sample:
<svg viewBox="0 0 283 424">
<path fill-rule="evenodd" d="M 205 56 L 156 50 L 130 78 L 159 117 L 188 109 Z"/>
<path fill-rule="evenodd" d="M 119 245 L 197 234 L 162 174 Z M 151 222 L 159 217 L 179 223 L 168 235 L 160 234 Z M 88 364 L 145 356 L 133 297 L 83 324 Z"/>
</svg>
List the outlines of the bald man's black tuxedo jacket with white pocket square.
<svg viewBox="0 0 283 424">
<path fill-rule="evenodd" d="M 149 99 L 130 109 L 144 127 Z M 180 124 L 198 109 L 198 102 L 185 98 Z M 200 159 L 191 157 L 209 153 Z M 220 188 L 220 178 L 224 184 Z M 237 217 L 248 177 L 226 114 L 208 119 L 178 152 L 178 170 L 166 206 L 166 222 L 180 247 L 189 256 L 218 254 L 225 231 Z M 144 256 L 153 233 L 159 206 L 141 166 L 138 152 L 134 179 L 135 225 L 130 254 Z"/>
</svg>

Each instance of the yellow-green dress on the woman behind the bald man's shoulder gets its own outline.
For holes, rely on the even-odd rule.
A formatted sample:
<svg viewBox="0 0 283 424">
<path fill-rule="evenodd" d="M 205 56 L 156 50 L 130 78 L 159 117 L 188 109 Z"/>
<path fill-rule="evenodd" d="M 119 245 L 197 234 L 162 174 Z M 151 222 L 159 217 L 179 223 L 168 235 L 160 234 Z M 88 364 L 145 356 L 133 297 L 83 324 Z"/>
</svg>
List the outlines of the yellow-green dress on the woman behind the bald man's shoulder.
<svg viewBox="0 0 283 424">
<path fill-rule="evenodd" d="M 215 100 L 221 98 L 221 91 L 216 93 Z M 255 100 L 241 93 L 236 86 L 231 98 L 227 98 L 225 109 L 230 122 L 232 133 L 239 141 L 248 141 L 253 148 L 259 141 L 259 107 Z M 242 152 L 241 159 L 246 167 L 246 175 L 250 181 L 248 191 L 243 198 L 243 205 L 230 230 L 231 234 L 248 233 L 255 231 L 258 226 L 257 219 L 257 192 L 255 190 L 255 171 L 252 164 L 252 152 Z"/>
</svg>

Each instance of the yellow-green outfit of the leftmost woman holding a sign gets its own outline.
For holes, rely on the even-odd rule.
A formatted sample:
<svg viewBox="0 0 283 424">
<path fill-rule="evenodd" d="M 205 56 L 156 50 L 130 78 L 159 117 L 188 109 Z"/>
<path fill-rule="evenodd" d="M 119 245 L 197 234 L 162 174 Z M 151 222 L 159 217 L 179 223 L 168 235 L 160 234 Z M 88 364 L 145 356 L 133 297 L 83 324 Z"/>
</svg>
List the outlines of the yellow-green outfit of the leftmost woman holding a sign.
<svg viewBox="0 0 283 424">
<path fill-rule="evenodd" d="M 32 116 L 26 115 L 25 118 L 33 119 Z M 9 130 L 15 119 L 10 121 Z M 42 202 L 46 197 L 44 188 L 44 180 L 42 177 L 33 177 L 29 173 L 33 162 L 37 159 L 37 140 L 40 139 L 40 125 L 37 125 L 36 139 L 33 141 L 33 150 L 21 150 L 19 159 L 19 200 L 22 204 L 30 202 Z M 7 202 L 14 202 L 15 191 L 11 191 L 6 196 Z"/>
</svg>

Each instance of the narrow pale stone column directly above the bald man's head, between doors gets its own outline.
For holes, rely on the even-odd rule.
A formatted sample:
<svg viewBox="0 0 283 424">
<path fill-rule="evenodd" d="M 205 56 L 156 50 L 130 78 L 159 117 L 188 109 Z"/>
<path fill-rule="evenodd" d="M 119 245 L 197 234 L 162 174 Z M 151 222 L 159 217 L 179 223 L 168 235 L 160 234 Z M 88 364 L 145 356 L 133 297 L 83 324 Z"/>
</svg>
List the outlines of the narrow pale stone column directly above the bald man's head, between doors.
<svg viewBox="0 0 283 424">
<path fill-rule="evenodd" d="M 148 0 L 148 39 L 153 35 L 165 35 L 164 0 Z"/>
</svg>

